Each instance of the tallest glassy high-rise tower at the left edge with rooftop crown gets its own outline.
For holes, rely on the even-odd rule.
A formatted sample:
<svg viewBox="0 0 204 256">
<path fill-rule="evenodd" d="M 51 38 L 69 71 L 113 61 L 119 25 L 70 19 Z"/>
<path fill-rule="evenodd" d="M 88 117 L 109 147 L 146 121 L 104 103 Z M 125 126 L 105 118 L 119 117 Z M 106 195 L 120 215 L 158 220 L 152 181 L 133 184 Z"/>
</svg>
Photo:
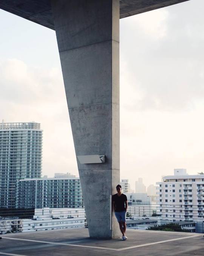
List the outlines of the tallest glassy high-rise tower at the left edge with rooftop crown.
<svg viewBox="0 0 204 256">
<path fill-rule="evenodd" d="M 40 124 L 0 123 L 0 208 L 14 208 L 18 179 L 40 178 Z"/>
</svg>

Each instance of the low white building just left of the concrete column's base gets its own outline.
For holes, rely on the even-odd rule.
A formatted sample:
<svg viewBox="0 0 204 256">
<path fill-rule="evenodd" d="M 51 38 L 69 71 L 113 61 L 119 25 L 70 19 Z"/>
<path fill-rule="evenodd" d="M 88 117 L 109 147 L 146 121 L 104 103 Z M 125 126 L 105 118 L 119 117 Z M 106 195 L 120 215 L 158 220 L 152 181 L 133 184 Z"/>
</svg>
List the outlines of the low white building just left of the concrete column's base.
<svg viewBox="0 0 204 256">
<path fill-rule="evenodd" d="M 32 220 L 22 219 L 21 232 L 83 228 L 85 221 L 84 208 L 36 209 Z"/>
</svg>

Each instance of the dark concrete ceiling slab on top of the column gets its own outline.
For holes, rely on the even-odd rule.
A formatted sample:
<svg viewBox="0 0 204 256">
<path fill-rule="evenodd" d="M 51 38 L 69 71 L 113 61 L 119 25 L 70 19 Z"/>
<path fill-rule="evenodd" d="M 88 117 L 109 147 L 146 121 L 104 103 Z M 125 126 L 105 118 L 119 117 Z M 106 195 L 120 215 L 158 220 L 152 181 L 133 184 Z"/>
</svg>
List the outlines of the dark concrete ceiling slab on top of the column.
<svg viewBox="0 0 204 256">
<path fill-rule="evenodd" d="M 120 0 L 120 18 L 189 0 Z M 0 0 L 0 9 L 54 30 L 50 0 Z"/>
</svg>

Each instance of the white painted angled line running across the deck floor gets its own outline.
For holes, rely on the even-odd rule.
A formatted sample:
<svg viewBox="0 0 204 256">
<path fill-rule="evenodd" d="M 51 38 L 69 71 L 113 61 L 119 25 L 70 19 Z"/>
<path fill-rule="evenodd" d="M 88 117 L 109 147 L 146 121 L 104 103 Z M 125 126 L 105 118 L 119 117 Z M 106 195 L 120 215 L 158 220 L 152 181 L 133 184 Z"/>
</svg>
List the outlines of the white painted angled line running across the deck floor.
<svg viewBox="0 0 204 256">
<path fill-rule="evenodd" d="M 92 248 L 92 249 L 110 250 L 110 251 L 125 251 L 125 250 L 134 249 L 134 248 L 139 248 L 139 247 L 144 247 L 144 246 L 149 246 L 149 245 L 156 245 L 156 244 L 159 244 L 159 243 L 167 243 L 167 242 L 172 242 L 172 241 L 177 241 L 177 240 L 182 240 L 182 239 L 188 239 L 188 238 L 198 237 L 198 236 L 201 236 L 201 235 L 190 235 L 190 236 L 186 236 L 186 237 L 179 237 L 179 238 L 163 240 L 163 241 L 153 242 L 153 243 L 144 243 L 142 245 L 134 245 L 134 246 L 124 247 L 124 248 L 120 248 L 120 249 L 113 249 L 113 248 L 106 248 L 106 247 L 99 247 L 99 246 L 91 246 L 91 245 L 74 245 L 74 244 L 71 244 L 71 243 L 56 243 L 56 242 L 47 242 L 47 241 L 39 241 L 39 240 L 20 239 L 20 238 L 13 238 L 13 237 L 2 237 L 2 239 L 20 240 L 20 241 L 36 242 L 36 243 L 49 243 L 49 244 L 53 244 L 53 245 L 65 245 L 65 246 Z M 123 243 L 125 243 L 125 241 L 123 241 Z M 19 254 L 8 254 L 8 255 L 19 255 Z"/>
</svg>

